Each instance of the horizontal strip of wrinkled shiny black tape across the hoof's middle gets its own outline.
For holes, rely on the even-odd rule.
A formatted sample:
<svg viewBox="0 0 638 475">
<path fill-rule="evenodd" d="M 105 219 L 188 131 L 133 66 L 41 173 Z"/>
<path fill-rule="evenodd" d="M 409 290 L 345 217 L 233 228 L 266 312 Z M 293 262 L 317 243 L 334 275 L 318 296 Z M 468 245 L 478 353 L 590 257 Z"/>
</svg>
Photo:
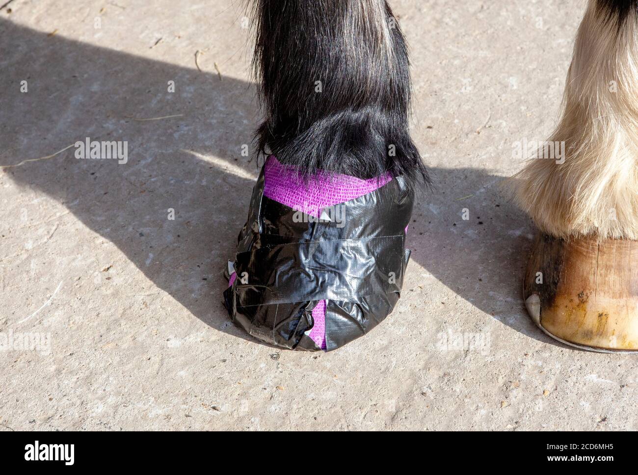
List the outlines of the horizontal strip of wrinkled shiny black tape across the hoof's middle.
<svg viewBox="0 0 638 475">
<path fill-rule="evenodd" d="M 237 305 L 302 300 L 359 302 L 400 292 L 403 236 L 282 244 L 237 254 Z M 311 265 L 308 265 L 311 263 Z M 355 272 L 356 271 L 356 272 Z"/>
</svg>

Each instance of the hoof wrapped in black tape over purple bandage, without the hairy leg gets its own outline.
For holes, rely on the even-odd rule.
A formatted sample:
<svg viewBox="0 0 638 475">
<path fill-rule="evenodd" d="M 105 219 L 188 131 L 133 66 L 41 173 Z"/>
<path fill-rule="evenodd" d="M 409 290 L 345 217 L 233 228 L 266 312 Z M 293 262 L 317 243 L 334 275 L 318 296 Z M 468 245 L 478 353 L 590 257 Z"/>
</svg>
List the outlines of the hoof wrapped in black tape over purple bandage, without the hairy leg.
<svg viewBox="0 0 638 475">
<path fill-rule="evenodd" d="M 226 272 L 230 318 L 290 349 L 330 351 L 364 335 L 399 299 L 413 198 L 403 177 L 304 182 L 269 157 Z"/>
</svg>

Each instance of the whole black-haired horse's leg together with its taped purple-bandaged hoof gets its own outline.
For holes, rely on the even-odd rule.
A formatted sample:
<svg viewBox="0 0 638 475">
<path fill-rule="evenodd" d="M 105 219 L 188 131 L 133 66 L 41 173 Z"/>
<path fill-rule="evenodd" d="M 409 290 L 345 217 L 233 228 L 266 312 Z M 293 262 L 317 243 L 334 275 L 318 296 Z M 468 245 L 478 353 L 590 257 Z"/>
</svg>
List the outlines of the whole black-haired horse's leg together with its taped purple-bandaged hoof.
<svg viewBox="0 0 638 475">
<path fill-rule="evenodd" d="M 414 187 L 427 182 L 408 133 L 406 45 L 385 0 L 255 0 L 255 13 L 269 157 L 226 306 L 269 343 L 335 349 L 396 304 Z"/>
</svg>

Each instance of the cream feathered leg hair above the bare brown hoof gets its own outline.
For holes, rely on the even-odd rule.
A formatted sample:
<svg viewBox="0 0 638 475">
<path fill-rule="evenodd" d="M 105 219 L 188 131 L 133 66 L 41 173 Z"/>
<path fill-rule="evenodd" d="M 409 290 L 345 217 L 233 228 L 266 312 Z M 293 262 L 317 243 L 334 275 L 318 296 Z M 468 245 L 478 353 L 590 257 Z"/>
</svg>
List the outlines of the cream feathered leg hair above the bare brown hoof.
<svg viewBox="0 0 638 475">
<path fill-rule="evenodd" d="M 540 230 L 638 239 L 638 0 L 590 0 L 549 142 L 564 162 L 539 150 L 516 184 Z"/>
</svg>

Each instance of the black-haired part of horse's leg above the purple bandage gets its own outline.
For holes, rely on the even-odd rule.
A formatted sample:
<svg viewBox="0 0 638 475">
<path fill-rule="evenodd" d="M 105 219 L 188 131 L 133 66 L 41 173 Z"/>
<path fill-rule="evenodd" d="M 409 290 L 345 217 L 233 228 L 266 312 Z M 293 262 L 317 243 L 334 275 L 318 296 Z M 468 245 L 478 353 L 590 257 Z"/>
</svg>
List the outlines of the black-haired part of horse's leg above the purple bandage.
<svg viewBox="0 0 638 475">
<path fill-rule="evenodd" d="M 425 178 L 408 53 L 385 0 L 256 0 L 262 152 L 304 173 Z"/>
</svg>

